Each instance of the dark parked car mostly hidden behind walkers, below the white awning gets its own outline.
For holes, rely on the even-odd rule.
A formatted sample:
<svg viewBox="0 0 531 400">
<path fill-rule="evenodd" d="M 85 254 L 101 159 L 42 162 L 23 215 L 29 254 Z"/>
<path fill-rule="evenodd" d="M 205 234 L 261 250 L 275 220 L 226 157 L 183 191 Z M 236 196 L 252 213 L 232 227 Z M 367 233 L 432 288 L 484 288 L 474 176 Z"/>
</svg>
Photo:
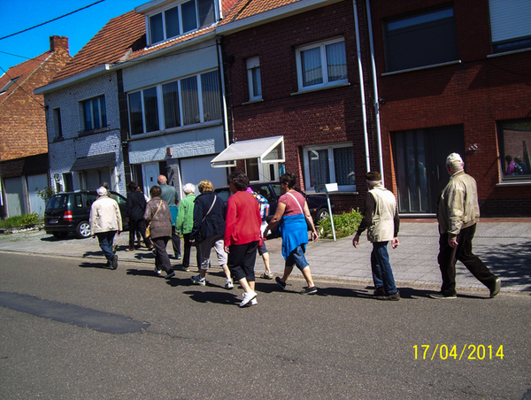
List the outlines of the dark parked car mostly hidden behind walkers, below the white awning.
<svg viewBox="0 0 531 400">
<path fill-rule="evenodd" d="M 250 183 L 249 186 L 258 194 L 266 197 L 267 201 L 269 202 L 269 219 L 273 218 L 279 197 L 282 195 L 281 182 L 258 182 Z M 306 198 L 314 223 L 319 221 L 319 219 L 330 217 L 326 196 L 306 195 L 299 188 L 296 188 L 296 190 Z M 216 188 L 214 192 L 225 202 L 225 204 L 227 204 L 228 197 L 232 194 L 228 186 Z M 334 209 L 333 204 L 332 209 Z"/>
</svg>

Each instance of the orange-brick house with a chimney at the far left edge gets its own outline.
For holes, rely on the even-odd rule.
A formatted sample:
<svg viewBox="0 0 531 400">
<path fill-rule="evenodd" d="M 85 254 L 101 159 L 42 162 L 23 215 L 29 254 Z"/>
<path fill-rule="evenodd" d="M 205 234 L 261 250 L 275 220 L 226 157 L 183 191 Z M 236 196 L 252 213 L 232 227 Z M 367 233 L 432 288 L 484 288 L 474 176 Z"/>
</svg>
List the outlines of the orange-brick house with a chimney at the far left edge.
<svg viewBox="0 0 531 400">
<path fill-rule="evenodd" d="M 68 38 L 50 36 L 50 50 L 0 77 L 0 217 L 44 212 L 36 193 L 48 186 L 46 119 L 42 95 L 33 91 L 70 58 Z"/>
</svg>

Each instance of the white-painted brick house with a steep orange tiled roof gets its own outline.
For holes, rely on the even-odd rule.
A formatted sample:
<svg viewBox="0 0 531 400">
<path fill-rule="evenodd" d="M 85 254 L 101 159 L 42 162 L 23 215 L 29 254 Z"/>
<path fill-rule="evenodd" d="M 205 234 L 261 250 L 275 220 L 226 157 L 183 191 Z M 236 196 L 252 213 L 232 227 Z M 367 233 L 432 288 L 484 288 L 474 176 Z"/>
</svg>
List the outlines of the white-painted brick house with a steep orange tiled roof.
<svg viewBox="0 0 531 400">
<path fill-rule="evenodd" d="M 126 194 L 127 116 L 120 65 L 145 44 L 142 16 L 111 19 L 46 86 L 51 185 L 58 191 L 99 188 Z M 120 104 L 121 102 L 121 104 Z M 124 127 L 125 125 L 125 127 Z"/>
</svg>

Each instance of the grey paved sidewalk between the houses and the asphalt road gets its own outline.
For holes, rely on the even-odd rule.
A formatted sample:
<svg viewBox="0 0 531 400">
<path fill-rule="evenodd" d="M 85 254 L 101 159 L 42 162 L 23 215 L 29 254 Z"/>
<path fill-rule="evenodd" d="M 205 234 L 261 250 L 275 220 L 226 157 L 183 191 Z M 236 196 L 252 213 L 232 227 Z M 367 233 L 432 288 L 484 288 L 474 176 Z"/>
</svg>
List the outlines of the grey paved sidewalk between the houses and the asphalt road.
<svg viewBox="0 0 531 400">
<path fill-rule="evenodd" d="M 435 219 L 402 219 L 400 246 L 391 249 L 389 256 L 396 286 L 428 287 L 438 290 L 441 275 L 437 265 L 439 234 Z M 352 236 L 333 240 L 310 242 L 306 257 L 312 268 L 312 275 L 319 287 L 321 280 L 345 280 L 372 285 L 370 253 L 372 244 L 362 235 L 358 249 L 352 246 Z M 116 241 L 119 244 L 119 262 L 134 262 L 152 268 L 154 256 L 145 248 L 127 252 L 128 232 Z M 283 271 L 281 239 L 266 242 L 271 258 L 273 273 Z M 481 219 L 473 240 L 474 253 L 502 279 L 502 290 L 531 291 L 531 219 Z M 168 246 L 171 249 L 171 244 Z M 1 235 L 1 251 L 19 251 L 33 254 L 62 255 L 74 258 L 94 259 L 104 262 L 103 252 L 96 239 L 58 240 L 43 231 Z M 191 262 L 195 262 L 192 253 Z M 173 265 L 181 264 L 172 258 Z M 212 265 L 216 265 L 212 255 Z M 192 271 L 194 268 L 192 268 Z M 257 276 L 264 270 L 261 258 L 257 258 Z M 300 275 L 298 270 L 294 274 Z M 458 263 L 459 288 L 484 288 L 466 267 Z M 487 290 L 485 288 L 485 290 Z"/>
</svg>

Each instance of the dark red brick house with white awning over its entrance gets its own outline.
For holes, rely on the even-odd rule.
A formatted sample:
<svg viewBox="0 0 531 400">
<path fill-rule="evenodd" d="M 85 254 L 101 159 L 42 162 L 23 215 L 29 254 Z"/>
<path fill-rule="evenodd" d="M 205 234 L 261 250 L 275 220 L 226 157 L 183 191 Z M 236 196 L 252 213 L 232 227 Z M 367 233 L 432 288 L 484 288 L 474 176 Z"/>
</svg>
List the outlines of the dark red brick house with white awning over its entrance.
<svg viewBox="0 0 531 400">
<path fill-rule="evenodd" d="M 368 38 L 361 31 L 357 36 L 364 5 L 358 8 L 359 17 L 348 1 L 257 0 L 236 7 L 217 27 L 227 58 L 232 146 L 250 141 L 258 147 L 253 143 L 264 137 L 283 141 L 284 154 L 255 151 L 249 158 L 242 152 L 236 168 L 251 181 L 296 173 L 310 193 L 337 182 L 335 212 L 363 207 L 365 173 L 378 162 L 362 107 L 361 88 L 370 96 L 371 85 L 368 75 L 360 85 L 357 40 L 363 48 Z"/>
</svg>

